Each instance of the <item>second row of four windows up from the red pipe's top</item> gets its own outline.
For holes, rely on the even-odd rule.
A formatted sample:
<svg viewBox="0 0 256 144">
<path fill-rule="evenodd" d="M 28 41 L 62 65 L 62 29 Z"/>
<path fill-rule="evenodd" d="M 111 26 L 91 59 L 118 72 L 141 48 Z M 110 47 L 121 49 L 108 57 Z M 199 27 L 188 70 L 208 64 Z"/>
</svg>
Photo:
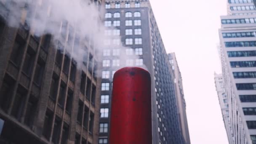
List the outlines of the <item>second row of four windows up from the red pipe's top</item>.
<svg viewBox="0 0 256 144">
<path fill-rule="evenodd" d="M 112 51 L 113 51 L 113 53 L 112 53 L 113 56 L 118 56 L 120 54 L 120 49 L 113 49 Z M 135 55 L 143 54 L 142 48 L 135 48 L 135 49 L 126 48 L 125 49 L 126 55 L 133 55 L 134 52 L 135 52 Z M 110 56 L 111 55 L 110 53 L 111 53 L 110 49 L 103 50 L 103 56 Z"/>
</svg>

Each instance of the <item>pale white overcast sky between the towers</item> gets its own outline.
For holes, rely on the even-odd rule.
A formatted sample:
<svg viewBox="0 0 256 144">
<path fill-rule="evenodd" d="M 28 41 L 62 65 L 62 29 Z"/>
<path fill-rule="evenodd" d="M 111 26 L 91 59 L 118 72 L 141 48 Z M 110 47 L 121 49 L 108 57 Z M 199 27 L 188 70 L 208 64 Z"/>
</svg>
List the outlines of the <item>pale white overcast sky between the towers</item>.
<svg viewBox="0 0 256 144">
<path fill-rule="evenodd" d="M 227 0 L 150 0 L 168 53 L 182 75 L 191 144 L 228 144 L 214 83 L 217 46 Z"/>
</svg>

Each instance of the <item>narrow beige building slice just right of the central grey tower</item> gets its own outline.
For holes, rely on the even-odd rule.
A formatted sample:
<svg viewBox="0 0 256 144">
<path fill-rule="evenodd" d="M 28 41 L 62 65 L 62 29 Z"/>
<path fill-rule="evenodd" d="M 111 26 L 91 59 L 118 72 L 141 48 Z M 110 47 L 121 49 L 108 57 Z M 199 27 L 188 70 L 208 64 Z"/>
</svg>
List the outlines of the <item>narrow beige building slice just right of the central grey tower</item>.
<svg viewBox="0 0 256 144">
<path fill-rule="evenodd" d="M 168 53 L 169 62 L 174 72 L 175 96 L 179 114 L 180 127 L 186 144 L 190 144 L 189 127 L 187 123 L 186 101 L 184 98 L 181 72 L 175 53 Z"/>
</svg>

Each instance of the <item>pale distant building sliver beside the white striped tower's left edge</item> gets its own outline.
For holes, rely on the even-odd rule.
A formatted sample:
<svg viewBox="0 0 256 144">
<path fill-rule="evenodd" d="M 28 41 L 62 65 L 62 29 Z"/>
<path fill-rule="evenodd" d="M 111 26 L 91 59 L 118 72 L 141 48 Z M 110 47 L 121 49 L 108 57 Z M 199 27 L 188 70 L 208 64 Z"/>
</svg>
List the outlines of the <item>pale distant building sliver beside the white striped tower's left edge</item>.
<svg viewBox="0 0 256 144">
<path fill-rule="evenodd" d="M 228 141 L 229 141 L 229 144 L 234 144 L 234 142 L 232 140 L 231 131 L 229 129 L 229 124 L 230 124 L 229 123 L 229 107 L 228 107 L 228 103 L 227 103 L 227 96 L 224 91 L 222 74 L 215 73 L 214 79 L 215 79 L 216 91 L 217 91 L 218 97 L 219 97 L 219 104 L 221 106 L 221 113 L 223 116 L 224 125 L 227 130 Z"/>
</svg>

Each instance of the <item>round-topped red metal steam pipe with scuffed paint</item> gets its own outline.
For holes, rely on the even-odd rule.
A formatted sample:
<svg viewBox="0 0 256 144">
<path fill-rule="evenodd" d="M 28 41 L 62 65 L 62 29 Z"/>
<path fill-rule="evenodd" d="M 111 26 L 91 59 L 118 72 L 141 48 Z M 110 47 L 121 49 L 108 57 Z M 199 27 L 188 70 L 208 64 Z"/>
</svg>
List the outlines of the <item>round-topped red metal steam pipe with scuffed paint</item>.
<svg viewBox="0 0 256 144">
<path fill-rule="evenodd" d="M 115 72 L 109 144 L 152 144 L 150 74 L 139 67 Z"/>
</svg>

